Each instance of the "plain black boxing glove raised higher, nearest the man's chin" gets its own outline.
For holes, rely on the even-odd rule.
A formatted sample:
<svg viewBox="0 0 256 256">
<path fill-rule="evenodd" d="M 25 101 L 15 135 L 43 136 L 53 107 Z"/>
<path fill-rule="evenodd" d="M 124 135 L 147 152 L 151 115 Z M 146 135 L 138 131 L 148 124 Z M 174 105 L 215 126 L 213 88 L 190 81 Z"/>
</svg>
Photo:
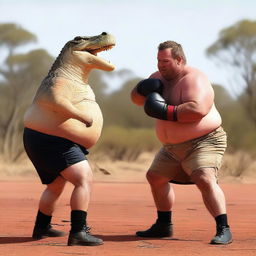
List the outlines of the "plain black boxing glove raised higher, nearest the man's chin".
<svg viewBox="0 0 256 256">
<path fill-rule="evenodd" d="M 145 97 L 147 97 L 152 92 L 158 92 L 159 94 L 162 94 L 163 83 L 160 79 L 156 78 L 144 79 L 137 84 L 137 92 Z"/>
</svg>

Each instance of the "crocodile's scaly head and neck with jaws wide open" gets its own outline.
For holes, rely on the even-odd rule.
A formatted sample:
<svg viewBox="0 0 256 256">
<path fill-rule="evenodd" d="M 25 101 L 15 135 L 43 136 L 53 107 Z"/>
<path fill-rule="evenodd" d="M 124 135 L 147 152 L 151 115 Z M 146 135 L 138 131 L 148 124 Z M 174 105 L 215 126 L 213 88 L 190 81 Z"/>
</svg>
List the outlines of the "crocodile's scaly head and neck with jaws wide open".
<svg viewBox="0 0 256 256">
<path fill-rule="evenodd" d="M 92 69 L 112 71 L 115 66 L 109 61 L 100 58 L 97 54 L 114 46 L 114 36 L 106 32 L 98 36 L 77 36 L 64 45 L 50 68 L 48 76 L 76 80 L 79 77 L 83 77 L 83 81 L 86 81 Z"/>
</svg>

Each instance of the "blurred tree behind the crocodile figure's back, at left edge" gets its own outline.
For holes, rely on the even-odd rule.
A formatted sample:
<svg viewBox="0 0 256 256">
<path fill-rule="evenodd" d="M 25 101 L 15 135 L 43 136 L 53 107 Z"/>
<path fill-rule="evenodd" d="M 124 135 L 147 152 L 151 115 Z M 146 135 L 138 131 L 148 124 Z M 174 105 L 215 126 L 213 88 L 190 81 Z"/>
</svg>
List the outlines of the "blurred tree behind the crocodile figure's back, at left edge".
<svg viewBox="0 0 256 256">
<path fill-rule="evenodd" d="M 35 42 L 36 36 L 15 24 L 0 24 L 0 47 L 7 58 L 0 68 L 0 153 L 16 161 L 23 153 L 23 115 L 53 58 L 42 49 L 17 54 L 19 46 Z"/>
</svg>

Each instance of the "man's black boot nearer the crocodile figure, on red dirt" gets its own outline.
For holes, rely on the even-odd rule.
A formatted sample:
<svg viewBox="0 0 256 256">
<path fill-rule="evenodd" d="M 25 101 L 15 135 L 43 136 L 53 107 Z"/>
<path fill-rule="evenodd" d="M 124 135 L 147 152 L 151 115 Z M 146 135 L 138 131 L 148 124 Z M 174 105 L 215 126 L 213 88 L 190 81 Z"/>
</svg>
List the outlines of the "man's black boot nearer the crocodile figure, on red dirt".
<svg viewBox="0 0 256 256">
<path fill-rule="evenodd" d="M 149 229 L 136 232 L 136 235 L 140 237 L 171 237 L 173 235 L 173 225 L 157 221 Z"/>
</svg>

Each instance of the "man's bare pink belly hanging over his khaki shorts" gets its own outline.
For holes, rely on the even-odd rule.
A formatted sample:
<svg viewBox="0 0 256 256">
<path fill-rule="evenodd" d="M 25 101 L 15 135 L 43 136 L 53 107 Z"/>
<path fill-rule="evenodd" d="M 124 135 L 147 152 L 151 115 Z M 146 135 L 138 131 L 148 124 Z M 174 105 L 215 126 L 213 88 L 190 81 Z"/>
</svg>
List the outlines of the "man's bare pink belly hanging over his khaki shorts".
<svg viewBox="0 0 256 256">
<path fill-rule="evenodd" d="M 214 107 L 198 122 L 179 123 L 157 119 L 156 134 L 163 144 L 177 144 L 201 137 L 218 128 L 221 123 L 221 116 Z"/>
</svg>

